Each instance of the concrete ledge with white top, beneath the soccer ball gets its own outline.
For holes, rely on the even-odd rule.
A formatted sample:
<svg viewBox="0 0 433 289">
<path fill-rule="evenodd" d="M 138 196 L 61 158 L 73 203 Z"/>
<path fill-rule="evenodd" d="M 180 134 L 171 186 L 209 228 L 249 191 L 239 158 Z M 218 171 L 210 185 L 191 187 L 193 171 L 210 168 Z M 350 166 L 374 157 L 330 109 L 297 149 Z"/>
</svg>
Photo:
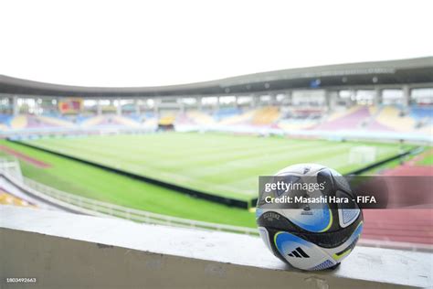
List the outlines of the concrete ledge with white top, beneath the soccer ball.
<svg viewBox="0 0 433 289">
<path fill-rule="evenodd" d="M 36 277 L 32 288 L 433 285 L 426 252 L 357 247 L 334 271 L 304 273 L 256 237 L 9 206 L 0 206 L 0 252 L 1 288 L 23 286 L 5 277 Z"/>
</svg>

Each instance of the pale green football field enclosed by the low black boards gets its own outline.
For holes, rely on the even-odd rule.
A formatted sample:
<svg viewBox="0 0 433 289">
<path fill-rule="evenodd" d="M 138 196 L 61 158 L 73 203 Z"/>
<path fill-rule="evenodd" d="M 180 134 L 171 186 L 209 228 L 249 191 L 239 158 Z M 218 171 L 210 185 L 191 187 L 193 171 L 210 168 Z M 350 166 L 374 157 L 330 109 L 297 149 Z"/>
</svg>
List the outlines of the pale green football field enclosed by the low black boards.
<svg viewBox="0 0 433 289">
<path fill-rule="evenodd" d="M 27 143 L 166 183 L 241 200 L 257 198 L 258 177 L 273 175 L 285 166 L 319 163 L 344 174 L 368 165 L 351 163 L 351 150 L 356 146 L 373 147 L 375 161 L 400 151 L 396 144 L 195 133 L 49 138 Z"/>
</svg>

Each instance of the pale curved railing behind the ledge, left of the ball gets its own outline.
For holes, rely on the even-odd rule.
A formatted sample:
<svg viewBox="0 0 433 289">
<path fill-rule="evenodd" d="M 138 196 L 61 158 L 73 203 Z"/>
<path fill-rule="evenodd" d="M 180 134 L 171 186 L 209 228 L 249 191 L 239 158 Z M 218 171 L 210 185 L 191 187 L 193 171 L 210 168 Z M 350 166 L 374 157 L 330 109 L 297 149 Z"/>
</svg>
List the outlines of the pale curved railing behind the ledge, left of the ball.
<svg viewBox="0 0 433 289">
<path fill-rule="evenodd" d="M 220 230 L 243 233 L 248 235 L 259 235 L 258 230 L 253 228 L 171 217 L 149 211 L 144 211 L 141 209 L 126 208 L 92 198 L 84 198 L 78 195 L 69 194 L 67 192 L 58 190 L 57 188 L 48 187 L 47 185 L 38 183 L 33 179 L 22 177 L 20 174 L 20 170 L 19 176 L 17 176 L 16 173 L 18 171 L 16 169 L 12 169 L 14 166 L 19 167 L 19 164 L 17 162 L 9 161 L 6 163 L 0 161 L 0 174 L 7 178 L 10 182 L 14 183 L 17 187 L 21 187 L 22 189 L 30 193 L 35 193 L 39 198 L 44 198 L 44 196 L 48 197 L 49 199 L 46 199 L 49 202 L 55 202 L 59 207 L 64 206 L 64 204 L 66 203 L 69 205 L 67 207 L 68 209 L 76 209 L 90 215 L 104 215 L 114 218 L 130 219 L 132 221 L 148 224 L 158 224 L 183 228 L 196 228 L 204 230 Z"/>
</svg>

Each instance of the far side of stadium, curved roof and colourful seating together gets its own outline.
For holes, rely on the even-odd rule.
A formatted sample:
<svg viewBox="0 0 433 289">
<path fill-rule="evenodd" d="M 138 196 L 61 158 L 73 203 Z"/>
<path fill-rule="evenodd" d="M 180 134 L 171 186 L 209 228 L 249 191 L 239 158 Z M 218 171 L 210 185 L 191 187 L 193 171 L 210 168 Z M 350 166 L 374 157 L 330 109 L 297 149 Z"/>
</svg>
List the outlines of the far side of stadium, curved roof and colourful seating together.
<svg viewBox="0 0 433 289">
<path fill-rule="evenodd" d="M 143 80 L 145 82 L 145 80 Z M 0 76 L 2 134 L 207 129 L 431 141 L 433 57 L 101 88 Z"/>
</svg>

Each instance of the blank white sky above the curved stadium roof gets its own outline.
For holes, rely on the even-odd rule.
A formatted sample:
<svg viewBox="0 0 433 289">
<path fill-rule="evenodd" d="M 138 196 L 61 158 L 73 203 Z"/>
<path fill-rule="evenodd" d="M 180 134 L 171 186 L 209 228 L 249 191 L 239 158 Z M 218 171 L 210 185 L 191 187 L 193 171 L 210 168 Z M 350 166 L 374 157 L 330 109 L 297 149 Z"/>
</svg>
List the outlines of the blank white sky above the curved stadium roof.
<svg viewBox="0 0 433 289">
<path fill-rule="evenodd" d="M 431 0 L 0 0 L 0 74 L 158 86 L 433 56 L 431 11 Z"/>
</svg>

